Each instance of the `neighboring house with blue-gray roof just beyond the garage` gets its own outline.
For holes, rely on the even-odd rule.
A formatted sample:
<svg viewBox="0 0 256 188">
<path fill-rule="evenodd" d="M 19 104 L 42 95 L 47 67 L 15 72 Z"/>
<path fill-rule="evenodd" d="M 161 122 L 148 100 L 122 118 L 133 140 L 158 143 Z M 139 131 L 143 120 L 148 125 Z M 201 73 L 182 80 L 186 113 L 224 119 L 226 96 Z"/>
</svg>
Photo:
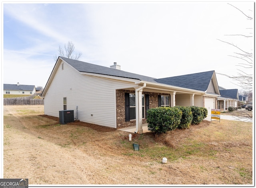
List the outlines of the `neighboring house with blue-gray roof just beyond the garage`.
<svg viewBox="0 0 256 188">
<path fill-rule="evenodd" d="M 239 101 L 238 89 L 225 89 L 219 86 L 220 97 L 218 97 L 218 109 L 221 111 L 228 110 L 228 107 L 237 107 Z"/>
</svg>

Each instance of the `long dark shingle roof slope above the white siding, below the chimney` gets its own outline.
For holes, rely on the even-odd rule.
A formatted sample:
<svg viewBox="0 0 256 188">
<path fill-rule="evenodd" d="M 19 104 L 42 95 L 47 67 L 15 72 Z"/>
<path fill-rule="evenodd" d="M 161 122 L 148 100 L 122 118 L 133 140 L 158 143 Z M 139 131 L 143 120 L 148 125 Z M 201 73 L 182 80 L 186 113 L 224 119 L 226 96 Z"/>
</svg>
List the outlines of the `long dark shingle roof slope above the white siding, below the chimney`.
<svg viewBox="0 0 256 188">
<path fill-rule="evenodd" d="M 60 57 L 64 61 L 66 61 L 68 64 L 70 64 L 72 67 L 77 69 L 79 72 L 89 72 L 89 73 L 96 73 L 96 74 L 103 74 L 103 75 L 109 75 L 109 76 L 118 76 L 123 78 L 132 78 L 137 80 L 144 80 L 148 82 L 156 82 L 152 77 L 148 76 L 142 76 L 140 74 L 134 74 L 131 72 L 121 71 L 118 69 L 112 69 L 108 67 L 103 67 L 100 65 L 94 65 L 91 63 L 86 63 L 82 61 L 77 61 L 73 59 L 68 59 L 66 57 Z"/>
</svg>

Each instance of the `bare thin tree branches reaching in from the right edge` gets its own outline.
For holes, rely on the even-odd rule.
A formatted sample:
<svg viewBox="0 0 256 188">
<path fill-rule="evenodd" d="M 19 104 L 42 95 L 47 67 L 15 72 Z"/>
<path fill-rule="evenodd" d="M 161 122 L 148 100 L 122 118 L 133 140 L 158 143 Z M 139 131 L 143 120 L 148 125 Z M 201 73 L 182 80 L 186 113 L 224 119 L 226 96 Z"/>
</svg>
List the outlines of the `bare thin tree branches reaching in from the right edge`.
<svg viewBox="0 0 256 188">
<path fill-rule="evenodd" d="M 233 6 L 231 4 L 229 4 L 230 6 Z M 234 8 L 236 8 L 235 6 L 233 6 Z M 242 12 L 240 9 L 236 8 L 237 10 L 239 10 L 244 16 L 246 16 L 247 20 L 253 20 L 252 17 L 250 17 L 249 15 L 244 14 L 244 12 Z M 252 29 L 252 28 L 247 28 L 247 29 Z M 229 35 L 229 36 L 238 36 L 238 37 L 253 37 L 252 33 L 249 33 L 248 35 L 242 35 L 242 34 L 235 34 L 235 35 Z M 219 41 L 222 41 L 220 39 L 217 39 Z M 217 73 L 217 74 L 221 74 L 224 76 L 227 76 L 228 78 L 232 78 L 233 80 L 235 80 L 238 84 L 238 86 L 240 86 L 243 90 L 246 91 L 252 91 L 252 68 L 253 68 L 253 56 L 252 53 L 245 51 L 241 48 L 239 48 L 237 45 L 234 45 L 233 43 L 227 42 L 227 41 L 222 41 L 228 45 L 232 45 L 233 47 L 236 48 L 236 52 L 234 52 L 235 55 L 229 55 L 231 57 L 236 57 L 238 59 L 241 60 L 241 63 L 238 63 L 238 67 L 240 67 L 238 70 L 237 75 L 228 75 L 228 74 L 223 74 L 223 73 Z M 248 73 L 249 71 L 249 73 Z"/>
</svg>

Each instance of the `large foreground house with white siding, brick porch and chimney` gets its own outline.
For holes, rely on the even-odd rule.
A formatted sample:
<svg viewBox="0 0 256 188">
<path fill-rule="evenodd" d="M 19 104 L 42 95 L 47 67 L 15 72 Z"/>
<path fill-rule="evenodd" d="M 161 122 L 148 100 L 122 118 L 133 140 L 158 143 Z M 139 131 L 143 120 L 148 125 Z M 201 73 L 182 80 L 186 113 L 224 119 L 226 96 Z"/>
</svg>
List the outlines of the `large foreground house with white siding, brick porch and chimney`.
<svg viewBox="0 0 256 188">
<path fill-rule="evenodd" d="M 74 110 L 75 119 L 113 128 L 136 125 L 142 133 L 147 110 L 158 106 L 217 108 L 215 71 L 156 79 L 58 57 L 42 92 L 44 113 Z"/>
</svg>

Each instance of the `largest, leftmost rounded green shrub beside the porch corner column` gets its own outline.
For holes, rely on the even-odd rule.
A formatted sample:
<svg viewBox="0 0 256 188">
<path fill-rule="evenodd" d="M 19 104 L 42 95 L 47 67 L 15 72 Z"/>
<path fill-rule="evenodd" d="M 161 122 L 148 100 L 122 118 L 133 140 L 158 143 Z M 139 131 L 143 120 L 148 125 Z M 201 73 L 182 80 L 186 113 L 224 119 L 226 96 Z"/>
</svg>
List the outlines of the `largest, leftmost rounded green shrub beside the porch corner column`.
<svg viewBox="0 0 256 188">
<path fill-rule="evenodd" d="M 148 130 L 156 134 L 172 131 L 180 124 L 182 111 L 178 108 L 158 107 L 148 111 Z"/>
</svg>

